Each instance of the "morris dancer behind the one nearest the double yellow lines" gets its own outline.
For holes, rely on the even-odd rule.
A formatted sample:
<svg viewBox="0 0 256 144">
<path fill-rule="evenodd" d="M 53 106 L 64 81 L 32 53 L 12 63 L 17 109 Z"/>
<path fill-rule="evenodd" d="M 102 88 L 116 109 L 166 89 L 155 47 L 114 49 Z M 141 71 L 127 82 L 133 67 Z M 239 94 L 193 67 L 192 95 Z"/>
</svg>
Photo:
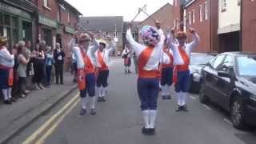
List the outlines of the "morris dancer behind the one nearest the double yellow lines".
<svg viewBox="0 0 256 144">
<path fill-rule="evenodd" d="M 108 46 L 107 42 L 103 39 L 98 41 L 98 50 L 95 52 L 96 66 L 98 69 L 97 78 L 97 90 L 98 90 L 98 102 L 106 102 L 106 89 L 108 86 L 107 79 L 109 77 L 109 62 L 110 53 L 114 50 L 114 42 L 111 41 L 111 45 Z M 108 48 L 106 48 L 108 47 Z"/>
</svg>

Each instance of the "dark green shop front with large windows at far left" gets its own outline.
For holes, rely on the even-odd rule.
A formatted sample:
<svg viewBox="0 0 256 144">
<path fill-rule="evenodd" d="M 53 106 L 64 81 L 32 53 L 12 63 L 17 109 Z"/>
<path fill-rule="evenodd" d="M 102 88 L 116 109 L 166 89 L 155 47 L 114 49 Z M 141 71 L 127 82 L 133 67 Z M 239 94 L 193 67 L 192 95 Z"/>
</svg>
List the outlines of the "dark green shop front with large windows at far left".
<svg viewBox="0 0 256 144">
<path fill-rule="evenodd" d="M 9 39 L 10 46 L 19 40 L 35 42 L 34 13 L 0 2 L 0 35 Z"/>
</svg>

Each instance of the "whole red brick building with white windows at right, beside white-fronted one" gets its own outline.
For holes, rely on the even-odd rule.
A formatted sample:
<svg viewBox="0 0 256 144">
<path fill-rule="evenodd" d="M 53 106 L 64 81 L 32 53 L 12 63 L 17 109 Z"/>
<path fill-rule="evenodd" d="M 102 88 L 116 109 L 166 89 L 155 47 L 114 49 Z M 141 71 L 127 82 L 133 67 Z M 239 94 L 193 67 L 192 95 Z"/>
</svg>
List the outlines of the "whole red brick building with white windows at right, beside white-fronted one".
<svg viewBox="0 0 256 144">
<path fill-rule="evenodd" d="M 194 28 L 201 38 L 194 51 L 218 51 L 218 0 L 187 0 L 185 15 L 186 29 Z M 191 40 L 189 35 L 189 41 Z"/>
</svg>

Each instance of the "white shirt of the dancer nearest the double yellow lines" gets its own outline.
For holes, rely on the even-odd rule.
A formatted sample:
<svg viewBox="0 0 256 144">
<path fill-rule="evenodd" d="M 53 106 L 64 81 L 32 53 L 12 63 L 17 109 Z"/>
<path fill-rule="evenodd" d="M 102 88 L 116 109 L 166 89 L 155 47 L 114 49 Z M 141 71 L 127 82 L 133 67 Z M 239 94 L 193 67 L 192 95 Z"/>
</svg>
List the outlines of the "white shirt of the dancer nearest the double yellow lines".
<svg viewBox="0 0 256 144">
<path fill-rule="evenodd" d="M 71 38 L 68 46 L 70 47 L 70 49 L 72 50 L 72 52 L 74 54 L 75 62 L 77 62 L 78 69 L 83 69 L 86 65 L 83 61 L 82 54 L 80 52 L 80 47 L 78 47 L 78 45 L 75 44 L 74 38 Z M 82 49 L 82 50 L 84 50 L 84 52 L 86 52 L 86 54 L 90 58 L 90 62 L 92 62 L 94 66 L 96 66 L 96 60 L 95 60 L 94 53 L 97 49 L 98 49 L 98 42 L 96 42 L 95 40 L 92 43 L 92 45 L 88 47 L 87 51 L 85 49 Z"/>
</svg>

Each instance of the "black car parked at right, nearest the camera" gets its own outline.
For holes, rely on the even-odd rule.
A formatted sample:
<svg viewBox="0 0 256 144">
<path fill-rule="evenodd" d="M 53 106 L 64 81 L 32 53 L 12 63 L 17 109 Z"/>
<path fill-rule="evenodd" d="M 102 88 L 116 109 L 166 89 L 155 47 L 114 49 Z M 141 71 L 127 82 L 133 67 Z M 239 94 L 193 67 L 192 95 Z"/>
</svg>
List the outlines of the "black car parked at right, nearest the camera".
<svg viewBox="0 0 256 144">
<path fill-rule="evenodd" d="M 256 53 L 219 54 L 202 69 L 200 101 L 230 112 L 234 127 L 256 124 Z"/>
</svg>

